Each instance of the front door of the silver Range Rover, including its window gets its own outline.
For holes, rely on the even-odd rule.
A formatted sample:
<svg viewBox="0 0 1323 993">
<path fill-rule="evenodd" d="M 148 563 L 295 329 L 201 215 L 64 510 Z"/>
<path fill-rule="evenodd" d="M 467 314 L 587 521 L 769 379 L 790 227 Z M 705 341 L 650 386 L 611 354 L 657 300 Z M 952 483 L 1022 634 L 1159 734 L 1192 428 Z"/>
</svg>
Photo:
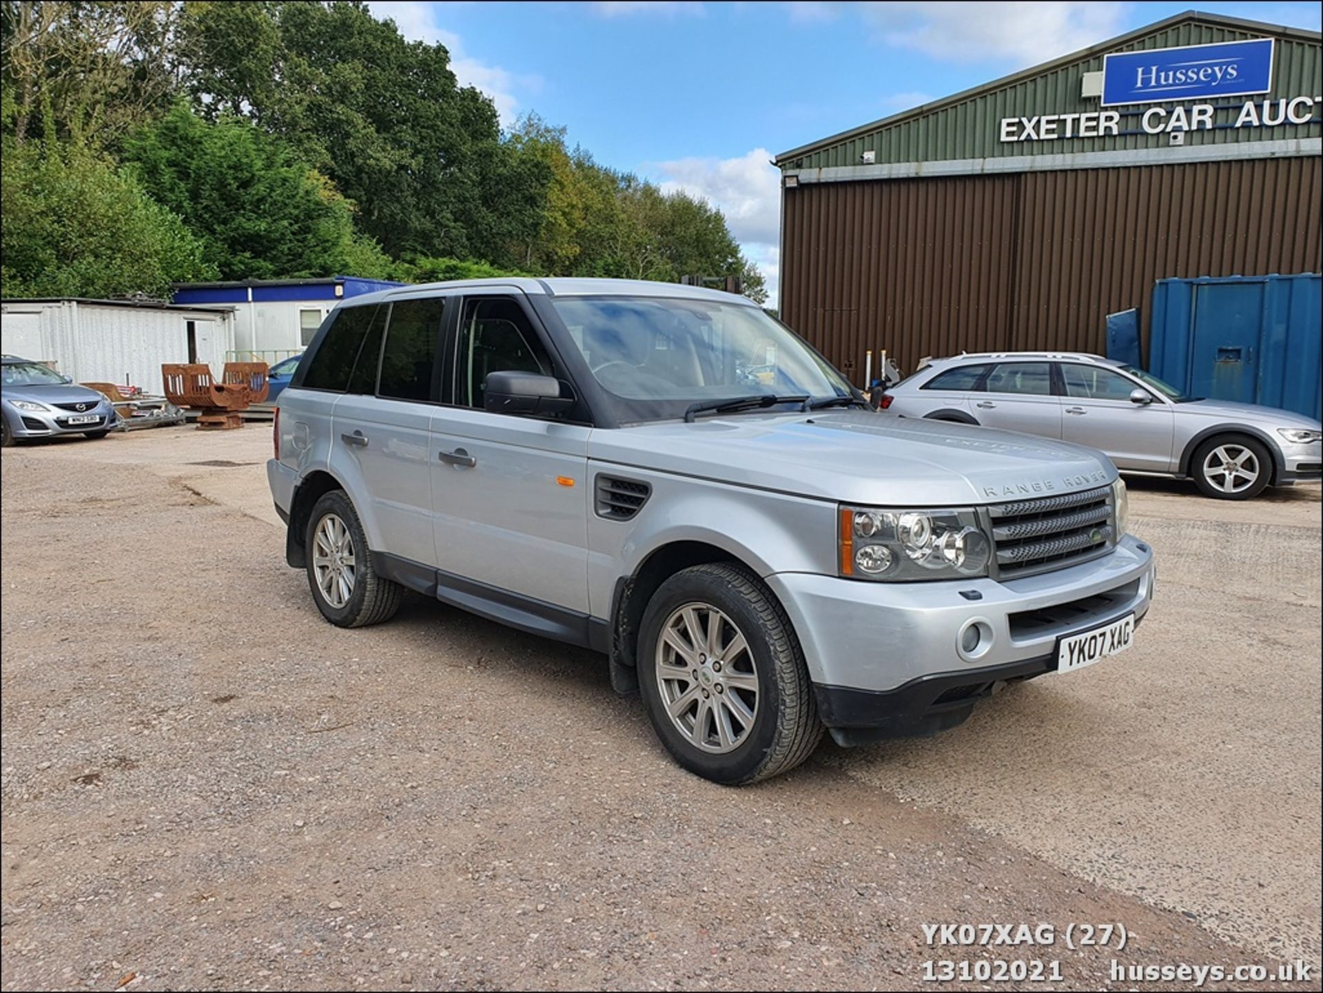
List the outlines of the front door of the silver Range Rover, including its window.
<svg viewBox="0 0 1323 993">
<path fill-rule="evenodd" d="M 483 407 L 488 373 L 564 378 L 521 298 L 467 299 L 451 365 L 452 403 L 431 420 L 442 584 L 450 574 L 524 614 L 549 604 L 586 615 L 590 428 Z"/>
</svg>

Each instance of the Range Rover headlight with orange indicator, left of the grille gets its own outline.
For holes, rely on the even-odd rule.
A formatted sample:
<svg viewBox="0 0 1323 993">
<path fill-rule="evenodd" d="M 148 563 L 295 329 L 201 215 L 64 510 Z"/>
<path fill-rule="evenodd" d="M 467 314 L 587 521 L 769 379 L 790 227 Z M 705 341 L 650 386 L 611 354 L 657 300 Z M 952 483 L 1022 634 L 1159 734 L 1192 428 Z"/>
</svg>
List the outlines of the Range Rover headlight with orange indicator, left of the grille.
<svg viewBox="0 0 1323 993">
<path fill-rule="evenodd" d="M 974 510 L 880 510 L 841 506 L 840 575 L 914 582 L 988 573 L 992 546 Z"/>
</svg>

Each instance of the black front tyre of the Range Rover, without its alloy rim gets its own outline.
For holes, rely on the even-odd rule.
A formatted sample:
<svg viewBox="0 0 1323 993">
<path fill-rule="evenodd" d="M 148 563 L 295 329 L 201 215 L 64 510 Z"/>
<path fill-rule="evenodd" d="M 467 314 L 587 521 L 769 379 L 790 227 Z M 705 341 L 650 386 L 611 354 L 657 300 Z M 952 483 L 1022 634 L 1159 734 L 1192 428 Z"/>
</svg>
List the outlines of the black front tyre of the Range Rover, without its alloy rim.
<svg viewBox="0 0 1323 993">
<path fill-rule="evenodd" d="M 695 603 L 716 607 L 744 633 L 758 677 L 753 723 L 744 740 L 724 754 L 693 744 L 662 702 L 656 658 L 663 625 L 675 611 Z M 822 740 L 814 688 L 790 619 L 771 591 L 744 566 L 692 566 L 662 583 L 643 612 L 638 673 L 648 718 L 667 751 L 680 766 L 714 783 L 742 785 L 787 772 Z"/>
</svg>

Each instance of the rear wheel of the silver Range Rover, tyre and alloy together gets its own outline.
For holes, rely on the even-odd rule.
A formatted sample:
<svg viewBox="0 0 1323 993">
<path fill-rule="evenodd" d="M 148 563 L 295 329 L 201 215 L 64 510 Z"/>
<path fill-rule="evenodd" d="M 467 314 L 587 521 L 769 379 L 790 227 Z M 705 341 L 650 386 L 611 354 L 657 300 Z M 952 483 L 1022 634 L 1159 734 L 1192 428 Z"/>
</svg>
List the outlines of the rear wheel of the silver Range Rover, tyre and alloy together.
<svg viewBox="0 0 1323 993">
<path fill-rule="evenodd" d="M 377 575 L 359 514 L 343 489 L 312 505 L 307 532 L 308 588 L 321 616 L 341 628 L 390 620 L 405 588 Z"/>
</svg>

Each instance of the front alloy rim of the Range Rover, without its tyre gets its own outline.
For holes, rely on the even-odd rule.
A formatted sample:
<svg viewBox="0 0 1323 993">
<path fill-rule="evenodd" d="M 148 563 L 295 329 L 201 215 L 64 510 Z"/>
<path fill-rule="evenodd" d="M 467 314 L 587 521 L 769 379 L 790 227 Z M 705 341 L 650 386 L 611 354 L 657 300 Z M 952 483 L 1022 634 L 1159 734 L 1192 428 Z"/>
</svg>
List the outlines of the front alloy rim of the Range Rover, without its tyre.
<svg viewBox="0 0 1323 993">
<path fill-rule="evenodd" d="M 680 734 L 703 751 L 738 748 L 758 717 L 758 669 L 749 641 L 708 603 L 677 607 L 662 625 L 658 690 Z"/>
</svg>

